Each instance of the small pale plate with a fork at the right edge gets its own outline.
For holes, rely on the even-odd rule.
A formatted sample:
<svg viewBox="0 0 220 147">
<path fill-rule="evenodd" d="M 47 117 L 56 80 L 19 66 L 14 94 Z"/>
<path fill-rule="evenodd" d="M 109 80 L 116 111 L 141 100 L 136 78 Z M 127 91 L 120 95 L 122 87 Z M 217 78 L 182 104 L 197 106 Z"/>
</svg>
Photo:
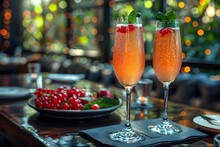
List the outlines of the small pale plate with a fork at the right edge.
<svg viewBox="0 0 220 147">
<path fill-rule="evenodd" d="M 193 122 L 200 129 L 203 129 L 205 131 L 212 132 L 212 133 L 220 133 L 220 115 L 206 115 L 206 116 L 214 119 L 212 121 L 218 125 L 209 123 L 207 120 L 205 120 L 201 116 L 196 116 L 193 119 Z"/>
</svg>

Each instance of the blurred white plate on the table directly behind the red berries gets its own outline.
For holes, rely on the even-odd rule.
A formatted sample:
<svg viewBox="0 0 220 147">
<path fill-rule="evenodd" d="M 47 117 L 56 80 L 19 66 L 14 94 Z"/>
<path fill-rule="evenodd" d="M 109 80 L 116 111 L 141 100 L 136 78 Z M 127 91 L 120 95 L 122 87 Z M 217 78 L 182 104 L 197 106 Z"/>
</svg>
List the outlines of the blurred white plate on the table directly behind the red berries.
<svg viewBox="0 0 220 147">
<path fill-rule="evenodd" d="M 58 82 L 75 82 L 85 78 L 84 74 L 49 74 L 51 80 Z"/>
</svg>

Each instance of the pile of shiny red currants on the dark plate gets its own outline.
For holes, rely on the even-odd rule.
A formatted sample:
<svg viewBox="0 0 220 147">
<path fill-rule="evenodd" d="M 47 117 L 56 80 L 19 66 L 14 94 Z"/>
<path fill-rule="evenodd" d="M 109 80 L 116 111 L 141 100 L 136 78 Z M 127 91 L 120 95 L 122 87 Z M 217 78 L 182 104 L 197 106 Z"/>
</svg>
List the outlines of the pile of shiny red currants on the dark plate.
<svg viewBox="0 0 220 147">
<path fill-rule="evenodd" d="M 57 90 L 39 88 L 34 95 L 35 105 L 38 108 L 82 110 L 83 103 L 80 97 L 85 97 L 86 91 L 61 86 Z"/>
</svg>

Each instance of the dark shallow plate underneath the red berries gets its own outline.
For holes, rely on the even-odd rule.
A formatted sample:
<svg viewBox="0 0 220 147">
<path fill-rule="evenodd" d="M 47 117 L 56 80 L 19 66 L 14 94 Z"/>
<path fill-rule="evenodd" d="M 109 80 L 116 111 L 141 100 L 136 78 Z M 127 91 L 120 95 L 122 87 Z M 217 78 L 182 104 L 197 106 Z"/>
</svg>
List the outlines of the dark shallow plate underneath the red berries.
<svg viewBox="0 0 220 147">
<path fill-rule="evenodd" d="M 119 99 L 117 106 L 103 108 L 98 110 L 55 110 L 55 109 L 44 109 L 37 108 L 35 106 L 34 97 L 28 100 L 28 105 L 38 111 L 40 114 L 48 117 L 63 118 L 63 119 L 88 119 L 102 117 L 115 111 L 122 105 L 122 100 Z"/>
</svg>

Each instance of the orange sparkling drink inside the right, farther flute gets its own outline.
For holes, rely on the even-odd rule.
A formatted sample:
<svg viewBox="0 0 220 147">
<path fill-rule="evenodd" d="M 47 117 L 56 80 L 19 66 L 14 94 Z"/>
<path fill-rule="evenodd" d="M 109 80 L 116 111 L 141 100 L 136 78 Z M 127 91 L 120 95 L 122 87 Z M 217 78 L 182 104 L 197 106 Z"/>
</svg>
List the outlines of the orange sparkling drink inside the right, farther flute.
<svg viewBox="0 0 220 147">
<path fill-rule="evenodd" d="M 162 35 L 156 31 L 153 51 L 153 67 L 161 82 L 172 82 L 178 75 L 182 64 L 180 31 L 173 30 Z"/>
</svg>

